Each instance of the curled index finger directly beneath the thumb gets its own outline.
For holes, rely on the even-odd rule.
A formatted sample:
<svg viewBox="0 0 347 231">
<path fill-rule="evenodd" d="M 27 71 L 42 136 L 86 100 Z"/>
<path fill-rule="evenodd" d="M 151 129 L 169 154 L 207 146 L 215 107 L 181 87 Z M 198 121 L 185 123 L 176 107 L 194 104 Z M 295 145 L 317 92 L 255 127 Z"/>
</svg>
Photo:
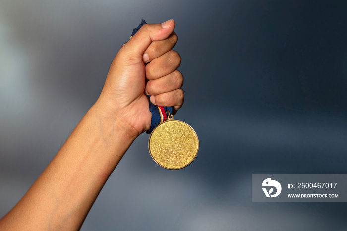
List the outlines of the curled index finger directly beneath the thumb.
<svg viewBox="0 0 347 231">
<path fill-rule="evenodd" d="M 165 40 L 161 41 L 153 41 L 148 48 L 146 49 L 145 53 L 143 54 L 143 62 L 147 63 L 152 61 L 155 58 L 158 58 L 171 49 L 176 45 L 178 41 L 177 34 L 173 31 L 173 33 Z"/>
</svg>

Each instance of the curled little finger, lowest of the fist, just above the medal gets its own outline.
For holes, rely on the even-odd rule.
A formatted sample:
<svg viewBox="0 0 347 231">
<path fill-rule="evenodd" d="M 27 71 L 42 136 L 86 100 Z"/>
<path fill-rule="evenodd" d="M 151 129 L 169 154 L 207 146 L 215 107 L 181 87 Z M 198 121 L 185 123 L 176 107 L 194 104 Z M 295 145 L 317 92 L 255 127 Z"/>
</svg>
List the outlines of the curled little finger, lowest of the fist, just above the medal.
<svg viewBox="0 0 347 231">
<path fill-rule="evenodd" d="M 173 115 L 180 109 L 184 102 L 184 92 L 181 88 L 171 92 L 151 96 L 150 101 L 158 106 L 173 107 Z"/>
</svg>

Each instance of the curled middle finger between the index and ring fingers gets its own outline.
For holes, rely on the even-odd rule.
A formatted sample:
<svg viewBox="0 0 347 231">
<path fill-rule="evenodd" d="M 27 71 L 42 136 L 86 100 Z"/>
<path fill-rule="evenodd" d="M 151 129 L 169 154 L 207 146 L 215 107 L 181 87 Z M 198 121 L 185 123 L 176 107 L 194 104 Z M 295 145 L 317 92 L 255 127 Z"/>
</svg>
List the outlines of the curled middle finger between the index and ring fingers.
<svg viewBox="0 0 347 231">
<path fill-rule="evenodd" d="M 170 50 L 146 65 L 146 78 L 152 80 L 168 75 L 177 69 L 180 64 L 181 56 L 178 52 Z"/>
</svg>

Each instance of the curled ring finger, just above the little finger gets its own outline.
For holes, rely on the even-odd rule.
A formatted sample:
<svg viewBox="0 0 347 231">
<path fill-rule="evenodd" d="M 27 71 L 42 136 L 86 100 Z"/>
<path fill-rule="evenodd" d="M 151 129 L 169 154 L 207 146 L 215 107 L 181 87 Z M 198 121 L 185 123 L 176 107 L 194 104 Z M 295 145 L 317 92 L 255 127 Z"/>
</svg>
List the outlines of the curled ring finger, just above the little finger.
<svg viewBox="0 0 347 231">
<path fill-rule="evenodd" d="M 170 92 L 183 86 L 183 75 L 178 70 L 146 83 L 146 93 L 148 95 L 159 95 Z"/>
</svg>

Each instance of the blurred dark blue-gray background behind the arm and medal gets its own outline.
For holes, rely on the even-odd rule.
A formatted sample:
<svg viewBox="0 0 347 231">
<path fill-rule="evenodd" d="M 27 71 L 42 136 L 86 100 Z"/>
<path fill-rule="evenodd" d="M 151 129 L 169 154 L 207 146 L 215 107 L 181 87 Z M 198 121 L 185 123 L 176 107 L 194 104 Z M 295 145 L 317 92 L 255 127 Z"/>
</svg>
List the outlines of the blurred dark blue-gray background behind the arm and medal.
<svg viewBox="0 0 347 231">
<path fill-rule="evenodd" d="M 200 139 L 170 171 L 131 146 L 82 230 L 347 230 L 346 203 L 252 203 L 252 173 L 347 173 L 347 3 L 0 0 L 0 217 L 98 98 L 141 19 L 175 19 Z"/>
</svg>

